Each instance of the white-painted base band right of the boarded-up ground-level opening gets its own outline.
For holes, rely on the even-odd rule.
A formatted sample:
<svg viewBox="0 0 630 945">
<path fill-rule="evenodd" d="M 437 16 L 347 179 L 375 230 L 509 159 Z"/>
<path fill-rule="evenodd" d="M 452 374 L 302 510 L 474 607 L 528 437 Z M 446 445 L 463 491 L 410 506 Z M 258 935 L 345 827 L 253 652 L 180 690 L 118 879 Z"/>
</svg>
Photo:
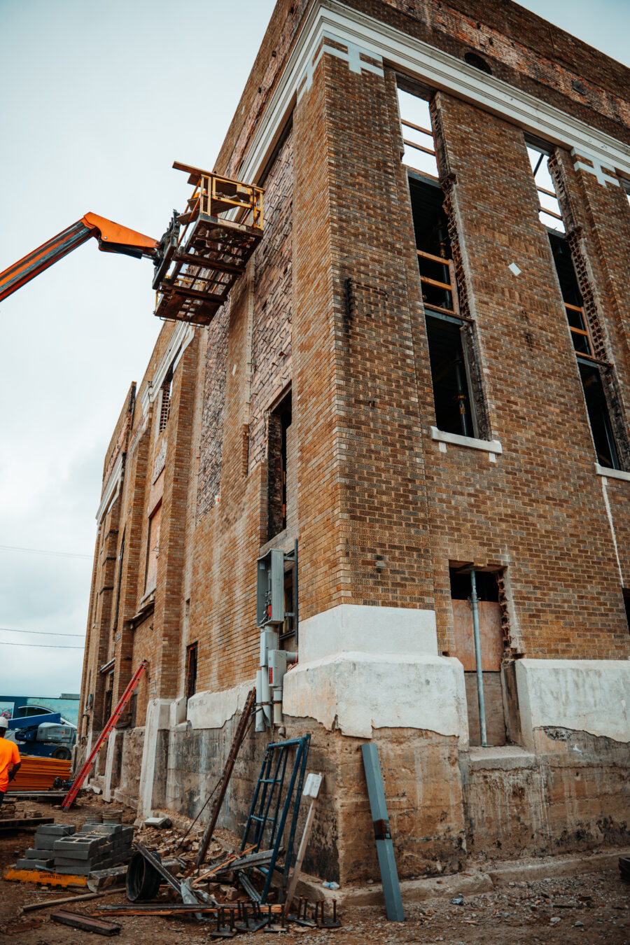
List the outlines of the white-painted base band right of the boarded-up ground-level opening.
<svg viewBox="0 0 630 945">
<path fill-rule="evenodd" d="M 630 742 L 630 661 L 518 660 L 520 730 L 562 728 Z"/>
</svg>

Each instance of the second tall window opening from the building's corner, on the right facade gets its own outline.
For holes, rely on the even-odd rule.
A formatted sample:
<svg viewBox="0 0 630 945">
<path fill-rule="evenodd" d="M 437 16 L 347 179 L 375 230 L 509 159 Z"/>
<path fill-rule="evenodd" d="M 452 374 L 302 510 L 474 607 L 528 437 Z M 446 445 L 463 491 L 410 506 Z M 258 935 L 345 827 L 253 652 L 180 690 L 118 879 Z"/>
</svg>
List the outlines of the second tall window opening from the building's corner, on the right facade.
<svg viewBox="0 0 630 945">
<path fill-rule="evenodd" d="M 588 326 L 584 299 L 580 291 L 560 204 L 555 194 L 553 178 L 549 173 L 548 152 L 527 146 L 532 172 L 536 181 L 540 221 L 547 227 L 557 272 L 560 292 L 565 304 L 570 336 L 580 372 L 580 380 L 587 405 L 587 417 L 595 446 L 595 455 L 601 466 L 620 469 L 619 451 L 611 421 L 611 411 L 604 387 L 606 365 L 595 357 L 593 339 Z"/>
</svg>

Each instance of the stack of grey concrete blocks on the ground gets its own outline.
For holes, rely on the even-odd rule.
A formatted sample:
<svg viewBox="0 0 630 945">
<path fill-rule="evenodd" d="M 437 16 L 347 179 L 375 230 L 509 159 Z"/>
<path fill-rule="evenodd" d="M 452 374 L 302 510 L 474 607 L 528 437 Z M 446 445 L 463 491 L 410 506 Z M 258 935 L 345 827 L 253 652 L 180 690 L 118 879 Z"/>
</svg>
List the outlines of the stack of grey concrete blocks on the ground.
<svg viewBox="0 0 630 945">
<path fill-rule="evenodd" d="M 131 856 L 133 827 L 121 823 L 43 824 L 35 833 L 32 850 L 17 861 L 17 869 L 49 869 L 56 873 L 88 876 Z"/>
</svg>

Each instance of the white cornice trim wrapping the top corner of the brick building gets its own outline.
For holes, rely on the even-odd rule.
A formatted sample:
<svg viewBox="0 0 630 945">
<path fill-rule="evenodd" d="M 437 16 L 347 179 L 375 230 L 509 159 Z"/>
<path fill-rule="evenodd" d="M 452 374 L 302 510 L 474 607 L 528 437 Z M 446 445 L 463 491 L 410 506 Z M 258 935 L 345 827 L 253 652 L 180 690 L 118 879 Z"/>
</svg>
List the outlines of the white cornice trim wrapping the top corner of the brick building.
<svg viewBox="0 0 630 945">
<path fill-rule="evenodd" d="M 242 180 L 257 180 L 262 173 L 295 105 L 298 88 L 312 73 L 317 48 L 326 37 L 351 43 L 399 72 L 457 95 L 552 144 L 575 148 L 585 158 L 630 175 L 630 146 L 604 131 L 393 26 L 349 9 L 339 0 L 316 0 L 248 148 L 239 171 Z"/>
</svg>

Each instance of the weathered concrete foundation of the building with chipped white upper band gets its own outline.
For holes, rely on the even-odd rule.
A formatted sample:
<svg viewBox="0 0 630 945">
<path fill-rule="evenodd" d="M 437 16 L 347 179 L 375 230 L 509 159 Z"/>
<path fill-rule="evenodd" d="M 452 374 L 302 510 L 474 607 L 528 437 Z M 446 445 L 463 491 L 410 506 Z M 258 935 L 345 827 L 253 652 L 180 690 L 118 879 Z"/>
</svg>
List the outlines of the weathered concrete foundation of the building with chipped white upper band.
<svg viewBox="0 0 630 945">
<path fill-rule="evenodd" d="M 366 724 L 379 747 L 401 879 L 457 872 L 470 859 L 539 857 L 630 843 L 627 740 L 559 724 L 533 724 L 543 717 L 567 721 L 569 716 L 563 715 L 567 712 L 573 719 L 576 713 L 586 718 L 585 706 L 597 709 L 606 665 L 551 667 L 550 662 L 528 660 L 522 661 L 523 671 L 518 667 L 520 725 L 529 732 L 523 741 L 531 747 L 468 746 L 465 706 L 453 712 L 458 703 L 448 686 L 440 690 L 432 681 L 441 673 L 442 679 L 448 681 L 454 674 L 463 683 L 456 660 L 417 655 L 402 665 L 391 654 L 381 654 L 377 660 L 374 654 L 352 653 L 292 670 L 286 678 L 285 710 L 287 703 L 313 700 L 309 704 L 319 718 L 286 713 L 285 737 L 310 734 L 308 769 L 325 776 L 306 871 L 342 885 L 378 880 L 359 750 L 366 739 L 349 733 L 353 727 L 363 731 Z M 309 685 L 308 675 L 314 670 L 330 674 L 331 666 L 336 667 L 332 681 L 328 689 L 322 687 L 316 706 L 315 686 Z M 553 693 L 546 692 L 541 706 L 533 694 L 552 669 L 557 685 Z M 612 684 L 620 691 L 626 671 L 624 664 L 610 667 Z M 376 694 L 371 703 L 363 692 L 366 680 L 369 692 Z M 394 680 L 398 695 L 400 687 L 407 694 L 404 700 L 396 699 L 399 709 L 401 702 L 411 700 L 415 687 L 413 704 L 403 706 L 399 716 L 407 713 L 417 720 L 415 726 L 375 725 L 387 696 L 393 701 Z M 196 817 L 221 775 L 252 684 L 253 680 L 223 693 L 196 694 L 187 713 L 182 699 L 151 702 L 144 729 L 117 731 L 110 741 L 105 776 L 98 779 L 105 797 L 132 803 L 142 816 L 166 809 Z M 361 693 L 353 703 L 355 687 Z M 342 714 L 340 720 L 335 714 L 329 719 L 326 707 L 333 698 L 348 716 Z M 451 713 L 446 711 L 447 702 Z M 440 713 L 438 726 L 434 719 Z M 422 717 L 432 720 L 431 728 L 420 728 Z M 600 731 L 607 726 L 599 710 L 585 724 Z M 623 734 L 618 719 L 610 725 Z M 250 729 L 238 756 L 219 820 L 235 833 L 244 829 L 268 741 L 268 732 Z M 207 816 L 208 810 L 202 821 Z"/>
</svg>

